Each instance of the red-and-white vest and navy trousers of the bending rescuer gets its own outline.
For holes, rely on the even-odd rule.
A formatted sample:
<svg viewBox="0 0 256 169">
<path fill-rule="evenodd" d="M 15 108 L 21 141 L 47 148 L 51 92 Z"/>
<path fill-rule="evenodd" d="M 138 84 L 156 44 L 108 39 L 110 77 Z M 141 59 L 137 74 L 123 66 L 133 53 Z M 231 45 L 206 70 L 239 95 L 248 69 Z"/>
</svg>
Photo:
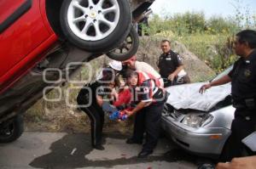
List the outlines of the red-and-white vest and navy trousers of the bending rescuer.
<svg viewBox="0 0 256 169">
<path fill-rule="evenodd" d="M 146 132 L 146 142 L 143 151 L 153 151 L 160 134 L 161 112 L 164 107 L 165 96 L 162 89 L 155 85 L 154 80 L 149 79 L 134 89 L 133 101 L 150 102 L 151 104 L 139 110 L 135 116 L 133 141 L 143 143 L 143 133 Z"/>
</svg>

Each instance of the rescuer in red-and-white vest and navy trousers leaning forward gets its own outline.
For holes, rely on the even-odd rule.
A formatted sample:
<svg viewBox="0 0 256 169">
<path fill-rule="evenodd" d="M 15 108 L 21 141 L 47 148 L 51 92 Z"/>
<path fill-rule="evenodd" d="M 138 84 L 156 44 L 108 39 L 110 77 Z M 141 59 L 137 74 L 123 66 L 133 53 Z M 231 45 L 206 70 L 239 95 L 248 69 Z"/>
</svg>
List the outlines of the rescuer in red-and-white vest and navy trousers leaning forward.
<svg viewBox="0 0 256 169">
<path fill-rule="evenodd" d="M 143 133 L 146 132 L 146 142 L 138 154 L 139 158 L 143 158 L 152 154 L 157 144 L 165 93 L 156 86 L 147 73 L 128 70 L 126 77 L 128 84 L 132 87 L 133 101 L 137 104 L 133 110 L 126 111 L 128 116 L 136 114 L 133 136 L 128 138 L 126 143 L 142 144 Z"/>
</svg>

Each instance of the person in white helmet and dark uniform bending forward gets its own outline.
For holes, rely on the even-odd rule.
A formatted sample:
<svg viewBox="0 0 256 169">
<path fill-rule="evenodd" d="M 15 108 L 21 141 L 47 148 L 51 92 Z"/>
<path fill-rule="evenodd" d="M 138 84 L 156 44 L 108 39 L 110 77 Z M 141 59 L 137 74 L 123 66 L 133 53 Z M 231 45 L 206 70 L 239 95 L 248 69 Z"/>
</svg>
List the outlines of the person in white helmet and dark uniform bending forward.
<svg viewBox="0 0 256 169">
<path fill-rule="evenodd" d="M 79 109 L 83 110 L 90 118 L 91 145 L 100 150 L 104 149 L 102 146 L 104 124 L 102 104 L 112 94 L 115 74 L 122 69 L 122 64 L 119 61 L 113 60 L 108 65 L 108 68 L 102 70 L 96 82 L 86 84 L 77 97 Z"/>
</svg>

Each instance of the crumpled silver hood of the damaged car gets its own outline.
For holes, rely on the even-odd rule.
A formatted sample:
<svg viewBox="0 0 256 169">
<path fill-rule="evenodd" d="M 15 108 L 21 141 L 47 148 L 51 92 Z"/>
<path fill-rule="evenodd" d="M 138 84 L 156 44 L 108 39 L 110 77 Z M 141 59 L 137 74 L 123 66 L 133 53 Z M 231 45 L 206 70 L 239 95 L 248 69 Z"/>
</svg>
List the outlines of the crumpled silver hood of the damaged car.
<svg viewBox="0 0 256 169">
<path fill-rule="evenodd" d="M 219 101 L 225 99 L 231 93 L 231 85 L 227 83 L 218 87 L 211 87 L 203 94 L 199 89 L 205 82 L 166 87 L 170 93 L 166 103 L 175 109 L 211 110 Z"/>
</svg>

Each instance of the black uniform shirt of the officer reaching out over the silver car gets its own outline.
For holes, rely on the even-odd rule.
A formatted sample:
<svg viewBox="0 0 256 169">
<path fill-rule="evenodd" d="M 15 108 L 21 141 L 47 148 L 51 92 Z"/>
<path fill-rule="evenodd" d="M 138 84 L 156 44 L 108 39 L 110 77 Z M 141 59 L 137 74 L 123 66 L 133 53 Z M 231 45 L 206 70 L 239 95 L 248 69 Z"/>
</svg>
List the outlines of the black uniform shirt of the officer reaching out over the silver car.
<svg viewBox="0 0 256 169">
<path fill-rule="evenodd" d="M 256 49 L 247 59 L 238 59 L 229 76 L 232 78 L 231 93 L 233 99 L 256 98 Z"/>
</svg>

